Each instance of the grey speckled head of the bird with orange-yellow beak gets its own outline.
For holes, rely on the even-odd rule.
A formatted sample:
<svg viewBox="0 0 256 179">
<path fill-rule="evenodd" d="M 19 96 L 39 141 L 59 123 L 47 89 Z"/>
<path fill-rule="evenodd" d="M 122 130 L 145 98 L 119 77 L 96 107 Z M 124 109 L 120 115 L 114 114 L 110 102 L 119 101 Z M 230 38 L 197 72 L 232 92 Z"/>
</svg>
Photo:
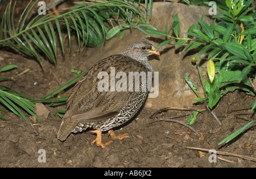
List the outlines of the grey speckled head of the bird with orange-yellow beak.
<svg viewBox="0 0 256 179">
<path fill-rule="evenodd" d="M 121 54 L 138 61 L 148 60 L 147 57 L 153 54 L 160 55 L 160 53 L 147 40 L 133 41 Z"/>
</svg>

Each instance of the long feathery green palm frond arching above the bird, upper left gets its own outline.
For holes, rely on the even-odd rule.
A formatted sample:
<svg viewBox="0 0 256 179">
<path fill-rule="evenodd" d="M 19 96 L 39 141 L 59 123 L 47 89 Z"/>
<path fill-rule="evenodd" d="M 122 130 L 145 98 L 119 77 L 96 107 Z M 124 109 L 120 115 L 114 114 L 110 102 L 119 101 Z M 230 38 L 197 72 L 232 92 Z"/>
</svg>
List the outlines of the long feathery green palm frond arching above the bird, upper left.
<svg viewBox="0 0 256 179">
<path fill-rule="evenodd" d="M 150 0 L 152 1 L 152 0 Z M 79 49 L 86 45 L 96 47 L 105 40 L 106 32 L 109 30 L 109 20 L 122 20 L 131 24 L 132 16 L 138 19 L 142 17 L 139 7 L 135 7 L 134 1 L 125 2 L 121 0 L 101 1 L 86 6 L 74 6 L 68 13 L 50 16 L 36 15 L 32 20 L 28 16 L 33 7 L 38 3 L 28 3 L 19 17 L 18 24 L 14 23 L 14 5 L 7 5 L 2 17 L 0 44 L 9 46 L 35 57 L 42 65 L 41 55 L 56 62 L 57 41 L 60 42 L 64 53 L 63 34 L 67 32 L 69 40 L 69 51 L 71 49 L 71 33 L 75 30 Z M 142 7 L 142 5 L 139 5 Z M 145 12 L 147 10 L 145 9 Z M 29 22 L 28 22 L 29 21 Z M 43 65 L 42 65 L 43 66 Z"/>
</svg>

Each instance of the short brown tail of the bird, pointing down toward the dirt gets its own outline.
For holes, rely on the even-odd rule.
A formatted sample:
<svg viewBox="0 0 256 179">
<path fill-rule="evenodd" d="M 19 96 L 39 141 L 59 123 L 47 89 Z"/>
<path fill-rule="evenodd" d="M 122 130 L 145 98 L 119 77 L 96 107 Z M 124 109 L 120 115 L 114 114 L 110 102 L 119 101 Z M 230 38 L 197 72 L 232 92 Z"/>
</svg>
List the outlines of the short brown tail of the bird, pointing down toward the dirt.
<svg viewBox="0 0 256 179">
<path fill-rule="evenodd" d="M 57 138 L 61 141 L 66 140 L 68 135 L 75 129 L 77 125 L 77 120 L 71 120 L 64 116 L 63 121 L 60 124 L 60 129 L 57 134 Z"/>
</svg>

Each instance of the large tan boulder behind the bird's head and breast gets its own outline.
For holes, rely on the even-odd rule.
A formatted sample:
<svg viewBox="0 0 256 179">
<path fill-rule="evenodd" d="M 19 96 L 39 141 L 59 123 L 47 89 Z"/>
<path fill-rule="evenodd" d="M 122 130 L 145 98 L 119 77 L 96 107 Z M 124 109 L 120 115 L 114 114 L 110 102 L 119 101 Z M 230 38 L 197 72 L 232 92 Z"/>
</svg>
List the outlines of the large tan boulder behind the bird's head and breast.
<svg viewBox="0 0 256 179">
<path fill-rule="evenodd" d="M 192 24 L 197 24 L 197 19 L 204 15 L 204 21 L 210 24 L 213 19 L 208 13 L 209 7 L 200 7 L 192 5 L 183 5 L 182 3 L 172 2 L 154 2 L 152 8 L 151 26 L 158 30 L 164 31 L 164 26 L 168 23 L 168 28 L 172 25 L 172 19 L 178 14 L 180 21 L 180 38 L 187 38 L 184 34 Z M 175 36 L 175 35 L 173 35 Z M 165 40 L 164 37 L 148 36 L 137 29 L 126 30 L 123 39 L 119 36 L 105 41 L 104 45 L 96 48 L 87 48 L 88 56 L 84 59 L 84 70 L 89 69 L 98 60 L 104 59 L 109 55 L 117 54 L 123 51 L 131 41 L 135 39 L 146 39 L 157 47 L 159 43 Z M 161 56 L 151 56 L 150 64 L 155 72 L 159 72 L 158 97 L 147 98 L 144 107 L 150 109 L 164 107 L 188 107 L 193 103 L 193 99 L 197 98 L 195 93 L 189 88 L 185 82 L 185 74 L 191 79 L 193 84 L 197 85 L 199 94 L 204 97 L 203 88 L 201 86 L 199 74 L 195 65 L 191 63 L 191 59 L 196 54 L 181 52 L 184 46 L 175 48 L 175 41 L 159 49 Z M 199 60 L 200 61 L 200 60 Z M 200 61 L 201 72 L 207 77 L 206 63 Z M 153 87 L 154 86 L 153 84 Z"/>
</svg>

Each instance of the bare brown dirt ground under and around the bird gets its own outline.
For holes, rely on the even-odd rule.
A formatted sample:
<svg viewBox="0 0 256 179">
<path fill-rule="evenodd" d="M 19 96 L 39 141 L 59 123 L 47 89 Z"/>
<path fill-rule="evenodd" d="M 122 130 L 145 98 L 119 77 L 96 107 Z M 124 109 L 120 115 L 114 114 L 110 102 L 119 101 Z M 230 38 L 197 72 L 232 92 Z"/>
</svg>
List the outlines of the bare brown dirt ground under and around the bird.
<svg viewBox="0 0 256 179">
<path fill-rule="evenodd" d="M 72 50 L 65 55 L 59 52 L 57 64 L 44 60 L 44 69 L 35 60 L 7 49 L 2 49 L 0 56 L 0 68 L 8 64 L 18 65 L 17 69 L 1 73 L 1 77 L 15 81 L 1 82 L 1 85 L 36 99 L 76 77 L 77 74 L 71 73 L 72 69 L 86 69 L 86 49 L 82 52 Z M 27 69 L 26 73 L 16 76 Z M 67 96 L 69 92 L 70 89 L 60 95 Z M 96 136 L 89 131 L 70 135 L 64 142 L 57 140 L 61 119 L 56 116 L 42 117 L 34 124 L 32 120 L 25 122 L 13 113 L 3 113 L 7 121 L 0 121 L 0 167 L 256 167 L 254 161 L 222 155 L 217 155 L 217 163 L 209 163 L 208 152 L 185 148 L 216 149 L 255 158 L 255 127 L 246 130 L 229 144 L 218 145 L 226 136 L 255 119 L 255 111 L 250 113 L 252 101 L 255 98 L 241 91 L 225 95 L 214 109 L 222 122 L 221 126 L 208 111 L 203 111 L 192 126 L 204 135 L 201 139 L 181 124 L 152 123 L 150 116 L 159 109 L 143 108 L 133 120 L 115 129 L 115 134 L 127 132 L 130 138 L 114 140 L 104 149 L 91 145 Z M 204 108 L 203 105 L 189 107 Z M 64 109 L 64 106 L 58 108 Z M 1 105 L 0 109 L 6 110 Z M 185 114 L 189 113 L 169 110 L 158 116 L 164 118 Z M 187 116 L 177 120 L 185 122 Z M 108 141 L 110 137 L 105 133 L 102 139 Z M 38 162 L 39 149 L 46 151 L 46 163 Z"/>
</svg>

